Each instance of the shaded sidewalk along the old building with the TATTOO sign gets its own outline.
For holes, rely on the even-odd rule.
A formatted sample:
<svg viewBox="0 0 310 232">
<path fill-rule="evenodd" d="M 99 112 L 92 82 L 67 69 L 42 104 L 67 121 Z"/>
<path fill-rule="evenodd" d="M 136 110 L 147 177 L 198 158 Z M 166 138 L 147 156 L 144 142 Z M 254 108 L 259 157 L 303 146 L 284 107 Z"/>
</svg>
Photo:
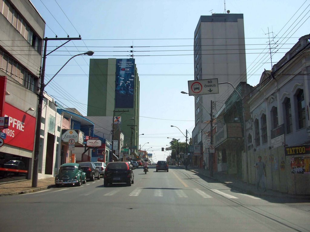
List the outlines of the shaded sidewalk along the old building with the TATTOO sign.
<svg viewBox="0 0 310 232">
<path fill-rule="evenodd" d="M 185 169 L 185 166 L 179 166 Z M 206 176 L 207 178 L 211 178 L 215 181 L 225 184 L 226 186 L 241 191 L 242 193 L 246 193 L 248 195 L 260 196 L 260 197 L 278 197 L 278 198 L 295 198 L 295 199 L 304 199 L 310 200 L 310 195 L 295 195 L 295 194 L 287 194 L 281 193 L 279 191 L 274 191 L 271 189 L 267 189 L 267 191 L 263 192 L 262 190 L 257 191 L 254 184 L 247 184 L 241 180 L 238 180 L 233 175 L 227 175 L 222 172 L 214 172 L 213 177 L 210 177 L 209 170 L 203 170 L 197 167 L 188 166 L 187 170 L 192 171 L 198 175 Z"/>
</svg>

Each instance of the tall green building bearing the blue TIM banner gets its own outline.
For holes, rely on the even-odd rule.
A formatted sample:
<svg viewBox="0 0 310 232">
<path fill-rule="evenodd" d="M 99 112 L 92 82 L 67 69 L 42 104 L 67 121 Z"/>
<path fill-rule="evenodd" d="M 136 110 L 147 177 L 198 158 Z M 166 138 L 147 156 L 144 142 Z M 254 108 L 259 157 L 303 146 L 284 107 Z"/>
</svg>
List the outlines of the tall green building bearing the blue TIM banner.
<svg viewBox="0 0 310 232">
<path fill-rule="evenodd" d="M 114 140 L 122 131 L 124 147 L 132 150 L 131 157 L 128 150 L 124 152 L 124 159 L 138 154 L 139 88 L 135 59 L 90 59 L 87 116 L 121 117 L 121 124 L 114 124 L 113 131 Z"/>
</svg>

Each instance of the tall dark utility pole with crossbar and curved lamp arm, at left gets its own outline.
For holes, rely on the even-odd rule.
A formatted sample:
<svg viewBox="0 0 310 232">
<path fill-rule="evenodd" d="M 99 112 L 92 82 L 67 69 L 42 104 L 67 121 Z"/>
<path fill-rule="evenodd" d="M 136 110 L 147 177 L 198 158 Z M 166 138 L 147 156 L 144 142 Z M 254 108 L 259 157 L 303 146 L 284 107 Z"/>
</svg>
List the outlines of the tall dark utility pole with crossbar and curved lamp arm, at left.
<svg viewBox="0 0 310 232">
<path fill-rule="evenodd" d="M 36 133 L 35 133 L 35 142 L 34 142 L 34 159 L 33 159 L 33 171 L 32 171 L 32 187 L 38 186 L 38 159 L 39 159 L 39 148 L 40 148 L 40 132 L 41 132 L 41 119 L 42 119 L 42 106 L 43 106 L 43 99 L 44 99 L 44 88 L 47 84 L 55 77 L 56 74 L 74 57 L 79 55 L 93 55 L 93 51 L 88 51 L 86 53 L 81 53 L 71 57 L 61 68 L 60 70 L 51 78 L 51 80 L 44 84 L 44 77 L 45 77 L 45 64 L 46 64 L 46 57 L 54 52 L 56 49 L 60 48 L 61 46 L 68 43 L 70 40 L 81 40 L 82 38 L 44 38 L 44 52 L 42 58 L 42 71 L 41 71 L 41 81 L 40 81 L 40 91 L 39 91 L 39 101 L 38 101 L 38 116 L 37 116 L 37 125 L 36 125 Z M 50 53 L 47 54 L 47 41 L 49 40 L 67 40 L 64 44 L 60 45 L 56 49 L 52 50 Z"/>
</svg>

